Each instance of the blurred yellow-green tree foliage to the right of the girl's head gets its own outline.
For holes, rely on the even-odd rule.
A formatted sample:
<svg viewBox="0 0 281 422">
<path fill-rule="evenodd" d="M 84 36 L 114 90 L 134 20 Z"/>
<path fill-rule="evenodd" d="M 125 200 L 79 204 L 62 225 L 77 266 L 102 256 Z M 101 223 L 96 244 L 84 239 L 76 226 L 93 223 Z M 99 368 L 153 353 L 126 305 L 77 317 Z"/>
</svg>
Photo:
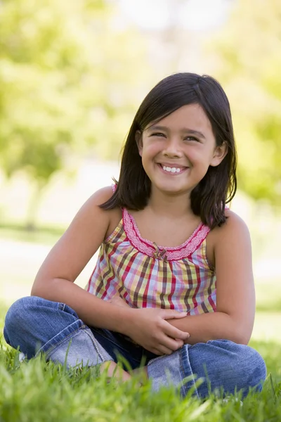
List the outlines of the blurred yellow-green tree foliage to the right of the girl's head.
<svg viewBox="0 0 281 422">
<path fill-rule="evenodd" d="M 233 6 L 211 49 L 233 110 L 239 187 L 280 205 L 281 1 L 237 0 Z"/>
</svg>

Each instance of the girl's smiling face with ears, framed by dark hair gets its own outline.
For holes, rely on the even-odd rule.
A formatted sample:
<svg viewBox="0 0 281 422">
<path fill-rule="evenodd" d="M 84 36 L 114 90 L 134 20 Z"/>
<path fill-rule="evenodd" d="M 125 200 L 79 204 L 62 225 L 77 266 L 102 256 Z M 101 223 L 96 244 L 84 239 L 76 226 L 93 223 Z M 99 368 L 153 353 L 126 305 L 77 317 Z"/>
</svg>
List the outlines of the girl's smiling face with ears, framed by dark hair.
<svg viewBox="0 0 281 422">
<path fill-rule="evenodd" d="M 227 153 L 216 146 L 211 123 L 199 104 L 188 104 L 136 133 L 143 168 L 153 189 L 168 194 L 190 193 L 209 165 L 217 166 Z"/>
</svg>

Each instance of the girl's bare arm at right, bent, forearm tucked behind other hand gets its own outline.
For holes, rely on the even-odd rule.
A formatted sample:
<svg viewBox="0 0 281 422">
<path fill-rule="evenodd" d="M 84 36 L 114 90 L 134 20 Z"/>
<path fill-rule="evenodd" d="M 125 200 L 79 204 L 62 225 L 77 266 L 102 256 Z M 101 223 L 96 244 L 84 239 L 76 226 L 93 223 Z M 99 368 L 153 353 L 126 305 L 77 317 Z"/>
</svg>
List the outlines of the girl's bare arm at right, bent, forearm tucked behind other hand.
<svg viewBox="0 0 281 422">
<path fill-rule="evenodd" d="M 247 344 L 254 325 L 255 293 L 247 226 L 233 212 L 214 232 L 216 312 L 169 321 L 190 333 L 187 343 L 226 339 Z"/>
</svg>

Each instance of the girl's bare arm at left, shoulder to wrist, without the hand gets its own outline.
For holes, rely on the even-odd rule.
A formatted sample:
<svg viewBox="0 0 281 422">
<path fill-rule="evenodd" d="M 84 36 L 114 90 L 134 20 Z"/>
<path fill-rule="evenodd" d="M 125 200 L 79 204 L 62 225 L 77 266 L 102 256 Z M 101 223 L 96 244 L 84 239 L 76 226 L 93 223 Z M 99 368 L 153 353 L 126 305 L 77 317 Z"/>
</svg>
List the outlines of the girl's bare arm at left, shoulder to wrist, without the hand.
<svg viewBox="0 0 281 422">
<path fill-rule="evenodd" d="M 107 234 L 112 213 L 101 210 L 98 205 L 111 195 L 111 187 L 100 189 L 81 207 L 41 265 L 31 294 L 66 303 L 86 324 L 122 331 L 127 309 L 112 308 L 74 284 Z"/>
</svg>

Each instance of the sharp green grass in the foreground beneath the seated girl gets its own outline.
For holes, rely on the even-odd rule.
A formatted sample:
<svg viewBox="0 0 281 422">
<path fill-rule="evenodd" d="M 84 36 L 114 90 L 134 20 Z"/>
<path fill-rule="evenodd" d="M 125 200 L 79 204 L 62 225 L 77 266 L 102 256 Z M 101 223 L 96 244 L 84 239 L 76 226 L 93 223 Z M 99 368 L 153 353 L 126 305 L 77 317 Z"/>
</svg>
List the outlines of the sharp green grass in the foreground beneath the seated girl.
<svg viewBox="0 0 281 422">
<path fill-rule="evenodd" d="M 6 306 L 0 308 L 4 325 Z M 181 399 L 174 389 L 152 392 L 138 378 L 107 383 L 95 368 L 72 369 L 40 358 L 19 362 L 18 352 L 0 343 L 0 421 L 2 422 L 262 422 L 281 420 L 280 345 L 252 341 L 266 360 L 268 378 L 260 394 L 240 402 L 211 396 Z"/>
</svg>

